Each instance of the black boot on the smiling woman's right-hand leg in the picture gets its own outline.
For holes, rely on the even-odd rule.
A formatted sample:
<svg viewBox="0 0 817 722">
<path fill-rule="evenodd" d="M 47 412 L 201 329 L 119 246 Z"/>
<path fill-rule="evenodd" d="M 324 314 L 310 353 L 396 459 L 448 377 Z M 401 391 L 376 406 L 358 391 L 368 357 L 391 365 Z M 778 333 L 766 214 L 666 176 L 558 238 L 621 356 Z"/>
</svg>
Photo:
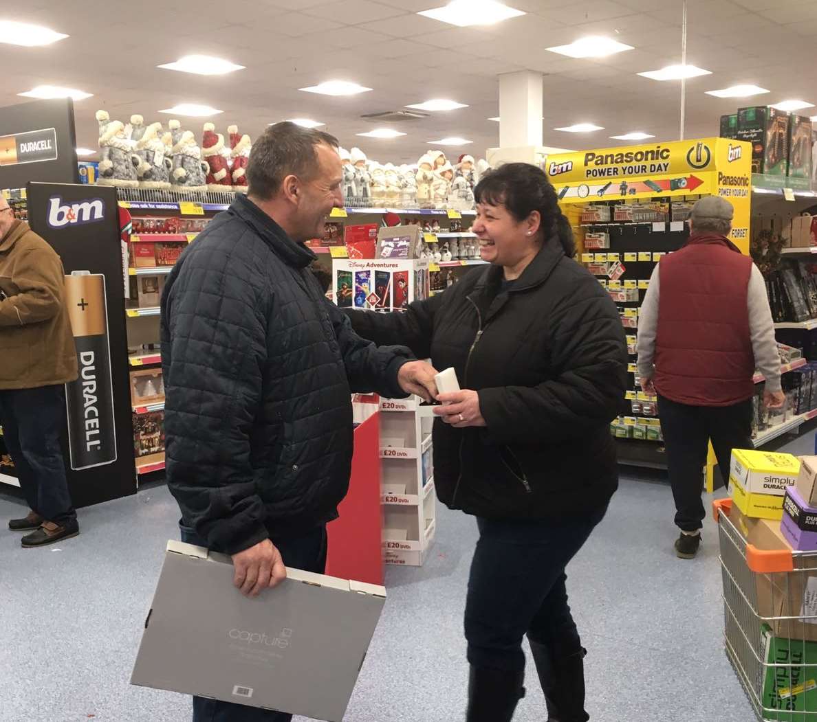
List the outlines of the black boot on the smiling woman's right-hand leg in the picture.
<svg viewBox="0 0 817 722">
<path fill-rule="evenodd" d="M 587 722 L 590 715 L 584 710 L 584 657 L 583 647 L 567 657 L 553 659 L 543 644 L 530 642 L 536 662 L 536 671 L 547 702 L 548 722 Z"/>
</svg>

